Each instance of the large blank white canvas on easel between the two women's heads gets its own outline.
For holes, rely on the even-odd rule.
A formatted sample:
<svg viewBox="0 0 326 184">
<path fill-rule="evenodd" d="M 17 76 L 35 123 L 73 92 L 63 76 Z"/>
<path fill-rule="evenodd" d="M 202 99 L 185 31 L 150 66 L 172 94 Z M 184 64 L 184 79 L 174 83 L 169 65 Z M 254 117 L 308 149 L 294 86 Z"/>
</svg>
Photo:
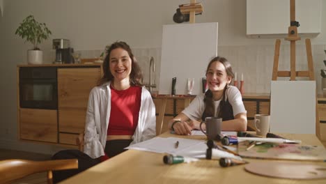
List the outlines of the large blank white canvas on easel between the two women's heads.
<svg viewBox="0 0 326 184">
<path fill-rule="evenodd" d="M 218 23 L 163 26 L 160 94 L 171 94 L 176 77 L 176 94 L 187 94 L 187 79 L 194 78 L 192 94 L 201 91 L 201 78 L 212 57 L 217 56 Z"/>
</svg>

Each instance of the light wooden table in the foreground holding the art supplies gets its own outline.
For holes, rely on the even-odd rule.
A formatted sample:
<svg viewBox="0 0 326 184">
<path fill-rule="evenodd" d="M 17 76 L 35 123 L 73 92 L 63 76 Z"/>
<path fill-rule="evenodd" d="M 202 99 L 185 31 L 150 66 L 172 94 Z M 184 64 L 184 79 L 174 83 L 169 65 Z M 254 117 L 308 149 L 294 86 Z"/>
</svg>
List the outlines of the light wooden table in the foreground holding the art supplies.
<svg viewBox="0 0 326 184">
<path fill-rule="evenodd" d="M 255 132 L 251 132 L 255 134 Z M 303 145 L 323 146 L 316 135 L 278 134 L 287 139 L 300 139 Z M 159 137 L 180 137 L 206 140 L 205 136 L 180 136 L 164 132 Z M 244 169 L 246 164 L 220 167 L 219 160 L 199 160 L 197 162 L 164 164 L 164 153 L 153 153 L 130 149 L 95 167 L 91 167 L 62 183 L 326 183 L 325 179 L 272 178 L 252 174 Z M 300 162 L 326 167 L 326 162 L 263 160 L 244 158 L 249 163 Z M 300 169 L 300 168 L 298 168 Z M 293 171 L 295 172 L 295 171 Z M 326 172 L 326 171 L 325 171 Z"/>
</svg>

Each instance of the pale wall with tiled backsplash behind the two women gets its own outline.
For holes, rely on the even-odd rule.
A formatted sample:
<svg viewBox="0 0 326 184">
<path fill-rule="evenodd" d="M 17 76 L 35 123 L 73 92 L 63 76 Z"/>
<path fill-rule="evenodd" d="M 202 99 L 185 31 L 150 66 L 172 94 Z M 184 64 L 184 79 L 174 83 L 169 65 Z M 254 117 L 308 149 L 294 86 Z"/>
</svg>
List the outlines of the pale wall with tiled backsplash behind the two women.
<svg viewBox="0 0 326 184">
<path fill-rule="evenodd" d="M 274 39 L 249 39 L 246 33 L 246 1 L 201 0 L 203 15 L 196 22 L 219 22 L 219 55 L 231 61 L 235 71 L 244 72 L 245 91 L 268 93 L 271 78 Z M 17 141 L 17 73 L 18 63 L 26 63 L 26 49 L 31 45 L 15 36 L 15 29 L 28 16 L 34 15 L 45 22 L 52 36 L 41 46 L 45 62 L 54 59 L 53 38 L 68 38 L 75 50 L 85 55 L 116 40 L 125 40 L 136 55 L 154 55 L 160 67 L 162 25 L 175 24 L 172 20 L 176 8 L 189 1 L 176 0 L 3 0 L 3 17 L 0 18 L 0 148 L 53 153 L 59 148 Z M 322 17 L 326 17 L 323 1 Z M 326 22 L 322 20 L 322 33 L 312 38 L 316 78 L 323 66 L 323 47 L 326 45 Z M 184 23 L 185 24 L 185 23 Z M 300 29 L 299 29 L 300 30 Z M 288 45 L 285 41 L 282 44 Z M 287 61 L 288 48 L 282 45 L 280 57 Z M 302 45 L 298 42 L 297 45 Z M 288 46 L 287 46 L 288 47 Z M 304 47 L 300 47 L 304 51 Z M 305 51 L 304 51 L 305 52 Z M 304 54 L 302 63 L 304 66 Z M 324 67 L 325 69 L 325 67 Z M 205 68 L 201 72 L 204 72 Z M 145 70 L 146 71 L 146 70 Z M 159 75 L 158 73 L 156 74 Z M 239 75 L 238 75 L 239 76 Z M 320 83 L 320 82 L 319 82 Z M 317 81 L 318 86 L 318 81 Z M 320 85 L 319 85 L 320 86 Z"/>
</svg>

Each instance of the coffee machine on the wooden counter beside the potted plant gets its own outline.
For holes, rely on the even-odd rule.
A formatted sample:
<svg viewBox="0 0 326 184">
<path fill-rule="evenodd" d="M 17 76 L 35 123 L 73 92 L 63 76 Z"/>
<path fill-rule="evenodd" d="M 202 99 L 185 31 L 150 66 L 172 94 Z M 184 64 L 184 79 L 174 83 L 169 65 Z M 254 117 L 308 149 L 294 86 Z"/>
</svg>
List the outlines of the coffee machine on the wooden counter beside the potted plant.
<svg viewBox="0 0 326 184">
<path fill-rule="evenodd" d="M 72 57 L 74 49 L 70 47 L 67 39 L 53 39 L 52 46 L 56 49 L 56 60 L 54 63 L 75 63 Z"/>
</svg>

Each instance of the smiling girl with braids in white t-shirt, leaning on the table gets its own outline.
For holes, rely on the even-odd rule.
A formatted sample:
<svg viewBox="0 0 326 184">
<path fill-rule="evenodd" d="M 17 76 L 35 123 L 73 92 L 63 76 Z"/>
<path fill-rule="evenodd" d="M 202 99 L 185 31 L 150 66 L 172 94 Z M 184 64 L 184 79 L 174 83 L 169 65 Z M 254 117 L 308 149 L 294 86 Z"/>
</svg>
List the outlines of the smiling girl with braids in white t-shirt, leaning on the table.
<svg viewBox="0 0 326 184">
<path fill-rule="evenodd" d="M 192 130 L 200 129 L 200 122 L 206 117 L 218 116 L 222 117 L 222 130 L 247 130 L 247 111 L 240 91 L 228 85 L 233 77 L 231 63 L 220 56 L 213 58 L 206 70 L 208 91 L 197 95 L 183 112 L 171 119 L 169 128 L 178 135 L 190 135 Z"/>
</svg>

